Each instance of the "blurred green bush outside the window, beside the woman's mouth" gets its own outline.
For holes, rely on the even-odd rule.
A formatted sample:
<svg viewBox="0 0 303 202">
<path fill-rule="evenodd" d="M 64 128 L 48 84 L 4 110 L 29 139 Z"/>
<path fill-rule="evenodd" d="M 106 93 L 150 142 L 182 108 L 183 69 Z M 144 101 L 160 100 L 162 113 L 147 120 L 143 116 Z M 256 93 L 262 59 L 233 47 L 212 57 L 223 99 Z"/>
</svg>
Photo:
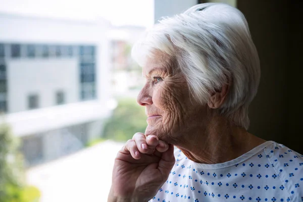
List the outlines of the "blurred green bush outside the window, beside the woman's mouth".
<svg viewBox="0 0 303 202">
<path fill-rule="evenodd" d="M 105 124 L 104 138 L 116 141 L 131 139 L 136 132 L 144 133 L 146 128 L 144 108 L 134 99 L 119 100 L 113 116 Z"/>
</svg>

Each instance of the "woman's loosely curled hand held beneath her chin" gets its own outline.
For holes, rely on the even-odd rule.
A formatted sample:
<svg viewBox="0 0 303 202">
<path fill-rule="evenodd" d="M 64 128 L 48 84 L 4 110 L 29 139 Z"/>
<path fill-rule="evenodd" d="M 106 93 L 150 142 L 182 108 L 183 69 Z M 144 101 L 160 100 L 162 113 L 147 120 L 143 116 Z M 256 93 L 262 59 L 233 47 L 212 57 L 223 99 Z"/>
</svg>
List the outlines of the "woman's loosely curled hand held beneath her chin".
<svg viewBox="0 0 303 202">
<path fill-rule="evenodd" d="M 108 201 L 147 201 L 156 195 L 175 163 L 174 147 L 155 135 L 134 134 L 119 151 Z"/>
</svg>

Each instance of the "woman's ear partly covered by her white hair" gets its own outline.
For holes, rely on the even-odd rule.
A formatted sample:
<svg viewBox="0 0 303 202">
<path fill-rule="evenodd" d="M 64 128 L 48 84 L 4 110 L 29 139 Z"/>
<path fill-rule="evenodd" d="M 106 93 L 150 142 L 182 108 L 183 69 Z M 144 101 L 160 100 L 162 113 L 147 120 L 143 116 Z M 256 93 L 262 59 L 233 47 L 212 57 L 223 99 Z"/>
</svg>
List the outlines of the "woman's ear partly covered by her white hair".
<svg viewBox="0 0 303 202">
<path fill-rule="evenodd" d="M 218 109 L 220 108 L 224 101 L 225 98 L 228 94 L 229 91 L 229 84 L 224 84 L 221 89 L 216 89 L 213 93 L 212 96 L 210 97 L 208 101 L 208 106 L 211 109 Z"/>
</svg>

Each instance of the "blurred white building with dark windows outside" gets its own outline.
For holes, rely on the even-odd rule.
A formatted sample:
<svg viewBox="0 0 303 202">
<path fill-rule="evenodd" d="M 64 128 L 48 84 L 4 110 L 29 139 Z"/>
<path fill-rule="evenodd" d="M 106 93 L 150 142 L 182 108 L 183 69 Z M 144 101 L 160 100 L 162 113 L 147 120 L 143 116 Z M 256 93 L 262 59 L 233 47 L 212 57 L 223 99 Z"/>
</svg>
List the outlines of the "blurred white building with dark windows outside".
<svg viewBox="0 0 303 202">
<path fill-rule="evenodd" d="M 0 110 L 28 165 L 99 136 L 111 104 L 111 25 L 0 14 Z"/>
</svg>

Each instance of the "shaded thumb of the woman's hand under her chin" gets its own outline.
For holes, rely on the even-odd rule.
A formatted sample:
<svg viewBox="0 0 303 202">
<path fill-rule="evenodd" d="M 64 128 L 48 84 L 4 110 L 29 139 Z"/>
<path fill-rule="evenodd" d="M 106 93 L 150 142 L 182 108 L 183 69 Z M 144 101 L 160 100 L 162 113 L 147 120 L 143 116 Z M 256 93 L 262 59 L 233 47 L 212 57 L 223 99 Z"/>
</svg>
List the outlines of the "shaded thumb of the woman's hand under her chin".
<svg viewBox="0 0 303 202">
<path fill-rule="evenodd" d="M 163 179 L 167 179 L 169 172 L 172 170 L 175 164 L 174 145 L 169 144 L 169 148 L 162 154 L 159 161 L 158 169 L 160 170 Z"/>
</svg>

